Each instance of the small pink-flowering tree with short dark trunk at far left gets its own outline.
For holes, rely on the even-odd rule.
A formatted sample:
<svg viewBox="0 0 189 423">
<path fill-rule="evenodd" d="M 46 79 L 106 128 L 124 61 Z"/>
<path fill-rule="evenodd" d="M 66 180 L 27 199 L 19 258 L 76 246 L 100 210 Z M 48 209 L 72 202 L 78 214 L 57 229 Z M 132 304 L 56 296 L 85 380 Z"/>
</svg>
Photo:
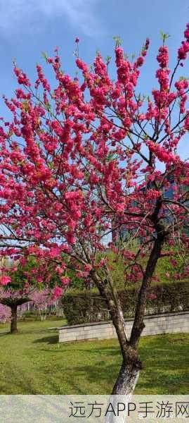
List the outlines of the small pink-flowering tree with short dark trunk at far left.
<svg viewBox="0 0 189 423">
<path fill-rule="evenodd" d="M 31 302 L 42 317 L 45 309 L 55 304 L 56 298 L 63 292 L 58 287 L 58 278 L 51 274 L 51 269 L 31 258 L 20 259 L 18 266 L 13 261 L 8 266 L 1 266 L 0 276 L 0 319 L 11 321 L 11 333 L 17 333 L 18 309 L 25 311 Z M 46 275 L 48 273 L 48 276 Z M 46 283 L 46 278 L 51 281 Z"/>
</svg>

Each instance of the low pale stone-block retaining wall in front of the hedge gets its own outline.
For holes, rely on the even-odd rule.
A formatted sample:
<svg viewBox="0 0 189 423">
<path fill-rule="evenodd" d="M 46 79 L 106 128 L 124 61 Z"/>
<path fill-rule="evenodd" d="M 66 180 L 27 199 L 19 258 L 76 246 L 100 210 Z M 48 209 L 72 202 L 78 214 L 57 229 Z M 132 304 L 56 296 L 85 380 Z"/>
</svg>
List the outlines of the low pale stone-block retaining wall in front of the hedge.
<svg viewBox="0 0 189 423">
<path fill-rule="evenodd" d="M 156 314 L 146 316 L 145 329 L 142 336 L 158 335 L 161 333 L 189 332 L 189 312 Z M 133 319 L 126 321 L 126 331 L 130 336 Z M 62 326 L 59 331 L 59 342 L 84 341 L 93 339 L 117 338 L 112 321 L 100 321 L 91 324 L 77 324 Z"/>
</svg>

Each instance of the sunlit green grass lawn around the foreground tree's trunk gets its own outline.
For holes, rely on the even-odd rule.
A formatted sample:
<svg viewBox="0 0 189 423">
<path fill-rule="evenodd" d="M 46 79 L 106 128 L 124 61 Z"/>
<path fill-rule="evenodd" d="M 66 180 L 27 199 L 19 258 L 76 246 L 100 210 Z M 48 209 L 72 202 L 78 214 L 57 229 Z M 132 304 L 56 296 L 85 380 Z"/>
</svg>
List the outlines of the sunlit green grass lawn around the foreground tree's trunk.
<svg viewBox="0 0 189 423">
<path fill-rule="evenodd" d="M 20 322 L 20 332 L 0 326 L 1 394 L 107 394 L 121 356 L 116 340 L 58 343 L 51 326 L 61 321 Z M 140 394 L 188 394 L 189 334 L 141 340 Z"/>
</svg>

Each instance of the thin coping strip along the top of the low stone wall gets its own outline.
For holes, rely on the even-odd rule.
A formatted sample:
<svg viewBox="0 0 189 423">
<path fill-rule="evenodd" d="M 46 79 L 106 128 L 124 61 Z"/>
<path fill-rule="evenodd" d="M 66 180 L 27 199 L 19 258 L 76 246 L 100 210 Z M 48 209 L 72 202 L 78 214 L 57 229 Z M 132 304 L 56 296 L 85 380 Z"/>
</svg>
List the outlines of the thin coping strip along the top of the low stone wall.
<svg viewBox="0 0 189 423">
<path fill-rule="evenodd" d="M 182 316 L 183 314 L 189 314 L 189 310 L 185 311 L 185 312 L 176 312 L 176 313 L 162 313 L 162 314 L 151 314 L 148 316 L 145 316 L 144 319 L 156 319 L 157 317 L 171 317 L 171 316 Z M 128 319 L 125 320 L 125 322 L 127 321 L 132 321 L 134 318 L 133 317 L 129 317 Z M 107 321 L 94 321 L 93 323 L 82 323 L 82 324 L 73 324 L 73 325 L 67 325 L 67 326 L 60 326 L 60 327 L 54 327 L 54 328 L 49 328 L 51 330 L 56 329 L 57 331 L 60 330 L 64 330 L 64 329 L 77 329 L 77 328 L 84 328 L 86 326 L 100 326 L 100 325 L 105 325 L 105 324 L 112 324 L 112 320 L 107 320 Z"/>
</svg>

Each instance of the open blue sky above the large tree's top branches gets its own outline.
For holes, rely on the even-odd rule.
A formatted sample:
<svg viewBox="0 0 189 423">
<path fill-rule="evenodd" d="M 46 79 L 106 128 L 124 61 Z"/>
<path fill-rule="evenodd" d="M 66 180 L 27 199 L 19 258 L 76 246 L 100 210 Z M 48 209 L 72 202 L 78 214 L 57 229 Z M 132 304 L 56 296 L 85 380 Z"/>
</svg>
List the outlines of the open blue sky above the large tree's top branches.
<svg viewBox="0 0 189 423">
<path fill-rule="evenodd" d="M 76 36 L 81 40 L 80 56 L 91 63 L 97 49 L 103 56 L 113 56 L 115 35 L 122 38 L 127 54 L 138 54 L 145 38 L 150 37 L 150 54 L 140 82 L 141 92 L 150 94 L 155 87 L 155 57 L 161 43 L 159 30 L 171 35 L 168 45 L 173 65 L 189 20 L 189 1 L 0 0 L 0 16 L 0 95 L 11 97 L 13 93 L 13 59 L 33 79 L 35 64 L 43 63 L 41 51 L 51 56 L 58 46 L 64 70 L 74 75 Z M 182 74 L 188 76 L 188 70 L 186 66 Z M 0 105 L 1 115 L 2 101 Z"/>
</svg>

